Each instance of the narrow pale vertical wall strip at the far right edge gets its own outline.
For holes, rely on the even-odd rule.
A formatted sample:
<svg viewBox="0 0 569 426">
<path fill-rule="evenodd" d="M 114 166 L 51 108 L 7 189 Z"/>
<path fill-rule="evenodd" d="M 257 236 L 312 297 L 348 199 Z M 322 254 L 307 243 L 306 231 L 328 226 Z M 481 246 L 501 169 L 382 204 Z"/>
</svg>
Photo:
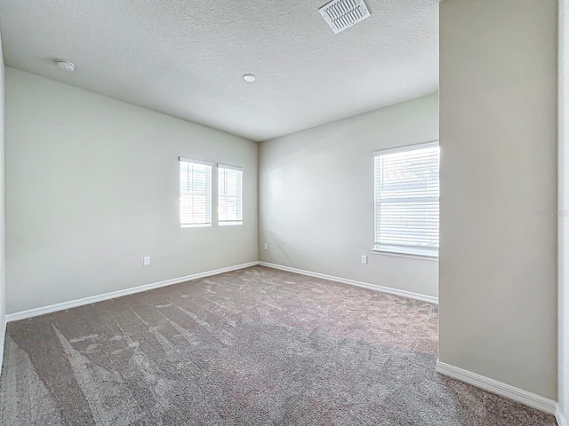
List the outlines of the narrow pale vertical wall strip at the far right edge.
<svg viewBox="0 0 569 426">
<path fill-rule="evenodd" d="M 558 409 L 569 421 L 569 0 L 559 2 Z"/>
</svg>

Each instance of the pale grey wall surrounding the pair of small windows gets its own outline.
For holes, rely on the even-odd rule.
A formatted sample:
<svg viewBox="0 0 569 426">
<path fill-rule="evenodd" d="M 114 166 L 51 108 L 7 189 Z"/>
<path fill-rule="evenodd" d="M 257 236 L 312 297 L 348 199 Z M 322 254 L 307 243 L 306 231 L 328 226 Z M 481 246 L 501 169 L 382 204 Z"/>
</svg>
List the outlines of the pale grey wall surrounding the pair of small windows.
<svg viewBox="0 0 569 426">
<path fill-rule="evenodd" d="M 244 167 L 243 226 L 180 229 L 179 156 Z M 256 261 L 257 207 L 257 144 L 6 68 L 8 313 Z"/>
</svg>

